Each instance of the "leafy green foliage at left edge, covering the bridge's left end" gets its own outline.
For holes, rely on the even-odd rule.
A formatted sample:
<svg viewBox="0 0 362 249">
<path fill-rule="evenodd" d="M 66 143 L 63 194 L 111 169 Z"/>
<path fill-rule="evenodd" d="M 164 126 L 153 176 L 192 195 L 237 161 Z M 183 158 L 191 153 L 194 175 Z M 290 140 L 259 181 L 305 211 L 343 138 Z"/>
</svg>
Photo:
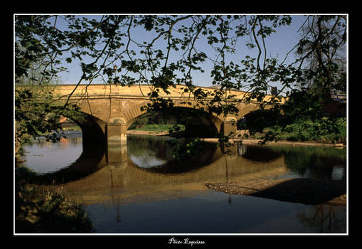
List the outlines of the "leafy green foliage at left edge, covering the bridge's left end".
<svg viewBox="0 0 362 249">
<path fill-rule="evenodd" d="M 15 140 L 17 145 L 29 142 L 31 137 L 41 135 L 45 135 L 46 141 L 59 141 L 60 137 L 65 137 L 59 132 L 62 130 L 60 118 L 66 115 L 80 120 L 82 117 L 76 112 L 78 107 L 75 105 L 61 107 L 60 102 L 53 97 L 54 85 L 60 82 L 60 78 L 57 75 L 51 78 L 44 77 L 43 70 L 43 61 L 31 63 L 26 75 L 16 78 Z M 39 82 L 41 84 L 38 84 Z"/>
</svg>

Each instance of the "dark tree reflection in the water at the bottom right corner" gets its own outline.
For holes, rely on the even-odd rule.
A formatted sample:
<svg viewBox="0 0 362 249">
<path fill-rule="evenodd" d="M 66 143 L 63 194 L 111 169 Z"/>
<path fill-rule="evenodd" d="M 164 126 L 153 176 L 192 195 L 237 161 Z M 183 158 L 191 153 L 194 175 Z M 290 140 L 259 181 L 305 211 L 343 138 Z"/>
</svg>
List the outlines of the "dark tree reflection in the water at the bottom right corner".
<svg viewBox="0 0 362 249">
<path fill-rule="evenodd" d="M 297 218 L 305 228 L 315 228 L 316 233 L 346 233 L 346 206 L 316 205 L 298 213 Z"/>
</svg>

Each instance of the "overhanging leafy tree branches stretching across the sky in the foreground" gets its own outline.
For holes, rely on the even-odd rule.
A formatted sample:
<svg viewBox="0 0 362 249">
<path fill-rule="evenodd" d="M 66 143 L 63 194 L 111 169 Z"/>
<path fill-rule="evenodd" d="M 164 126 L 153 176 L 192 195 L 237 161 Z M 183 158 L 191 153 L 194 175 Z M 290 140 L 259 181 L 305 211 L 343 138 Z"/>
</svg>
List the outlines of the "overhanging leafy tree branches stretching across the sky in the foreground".
<svg viewBox="0 0 362 249">
<path fill-rule="evenodd" d="M 277 105 L 275 100 L 281 92 L 295 88 L 297 83 L 313 80 L 321 92 L 326 92 L 343 81 L 341 67 L 333 59 L 346 43 L 346 16 L 307 16 L 301 27 L 304 36 L 293 48 L 301 56 L 287 64 L 285 59 L 268 56 L 265 40 L 291 22 L 291 16 L 276 15 L 18 15 L 16 82 L 28 76 L 31 64 L 40 60 L 44 80 L 66 70 L 66 63 L 78 61 L 82 76 L 75 89 L 83 82 L 91 84 L 95 78 L 105 84 L 148 84 L 154 103 L 150 108 L 155 110 L 173 106 L 171 99 L 159 97 L 160 90 L 169 94 L 171 88 L 182 84 L 185 95 L 193 93 L 193 107 L 207 105 L 207 112 L 228 115 L 238 110 L 238 102 L 226 97 L 230 89 L 250 92 L 250 97 L 240 101 L 261 101 L 272 83 L 281 83 L 277 95 L 263 102 L 263 108 Z M 255 56 L 250 52 L 238 61 L 230 60 L 246 38 L 245 48 L 255 51 Z M 317 63 L 311 68 L 308 62 L 312 58 Z M 212 83 L 218 86 L 212 91 L 200 90 L 193 83 L 195 73 L 205 73 L 206 61 L 213 65 Z M 206 97 L 211 101 L 205 102 Z M 68 105 L 66 101 L 62 110 Z"/>
</svg>

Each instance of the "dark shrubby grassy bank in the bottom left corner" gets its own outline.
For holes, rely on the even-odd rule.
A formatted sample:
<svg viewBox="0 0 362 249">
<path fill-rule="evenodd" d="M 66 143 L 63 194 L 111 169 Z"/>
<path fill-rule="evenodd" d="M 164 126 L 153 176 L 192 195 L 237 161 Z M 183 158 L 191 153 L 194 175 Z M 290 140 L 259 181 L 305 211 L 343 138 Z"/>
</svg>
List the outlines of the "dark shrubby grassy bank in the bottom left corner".
<svg viewBox="0 0 362 249">
<path fill-rule="evenodd" d="M 61 186 L 38 186 L 36 174 L 23 166 L 15 169 L 16 233 L 90 233 L 92 221 L 78 203 L 69 201 Z"/>
</svg>

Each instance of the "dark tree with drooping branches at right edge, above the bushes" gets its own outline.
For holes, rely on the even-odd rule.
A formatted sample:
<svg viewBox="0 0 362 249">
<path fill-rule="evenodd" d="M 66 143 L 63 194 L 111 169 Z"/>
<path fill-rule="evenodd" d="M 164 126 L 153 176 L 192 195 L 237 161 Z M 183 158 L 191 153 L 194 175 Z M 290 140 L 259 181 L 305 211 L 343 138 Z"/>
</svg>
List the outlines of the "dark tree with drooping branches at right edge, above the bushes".
<svg viewBox="0 0 362 249">
<path fill-rule="evenodd" d="M 297 55 L 307 61 L 302 88 L 346 92 L 346 16 L 308 16 Z"/>
</svg>

